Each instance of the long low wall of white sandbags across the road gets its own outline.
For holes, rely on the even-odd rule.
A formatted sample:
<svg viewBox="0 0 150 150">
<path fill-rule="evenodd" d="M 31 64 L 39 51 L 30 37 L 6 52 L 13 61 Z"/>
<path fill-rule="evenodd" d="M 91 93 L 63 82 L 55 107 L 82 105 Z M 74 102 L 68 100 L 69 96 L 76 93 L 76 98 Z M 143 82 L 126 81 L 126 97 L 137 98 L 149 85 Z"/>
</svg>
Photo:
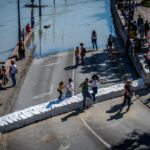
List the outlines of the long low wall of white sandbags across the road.
<svg viewBox="0 0 150 150">
<path fill-rule="evenodd" d="M 143 79 L 133 81 L 133 87 L 136 90 L 144 88 Z M 116 98 L 124 94 L 124 83 L 116 84 L 107 88 L 100 88 L 96 95 L 97 101 Z M 93 101 L 87 99 L 87 105 Z M 77 94 L 63 101 L 53 100 L 24 110 L 16 111 L 11 114 L 0 117 L 0 132 L 6 133 L 32 123 L 57 116 L 63 113 L 80 109 L 83 106 L 82 94 Z"/>
</svg>

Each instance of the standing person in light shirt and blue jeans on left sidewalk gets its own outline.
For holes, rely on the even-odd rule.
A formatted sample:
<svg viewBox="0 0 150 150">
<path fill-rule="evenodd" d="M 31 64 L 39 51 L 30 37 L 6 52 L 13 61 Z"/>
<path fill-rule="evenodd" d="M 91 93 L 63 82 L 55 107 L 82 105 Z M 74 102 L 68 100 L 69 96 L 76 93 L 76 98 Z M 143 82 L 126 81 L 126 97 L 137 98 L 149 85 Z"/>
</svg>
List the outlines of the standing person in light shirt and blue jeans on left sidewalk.
<svg viewBox="0 0 150 150">
<path fill-rule="evenodd" d="M 12 83 L 13 83 L 12 86 L 16 86 L 16 74 L 17 74 L 17 72 L 18 72 L 17 66 L 16 66 L 15 62 L 12 60 L 11 66 L 9 69 L 9 74 L 10 74 L 10 77 L 11 77 Z"/>
</svg>

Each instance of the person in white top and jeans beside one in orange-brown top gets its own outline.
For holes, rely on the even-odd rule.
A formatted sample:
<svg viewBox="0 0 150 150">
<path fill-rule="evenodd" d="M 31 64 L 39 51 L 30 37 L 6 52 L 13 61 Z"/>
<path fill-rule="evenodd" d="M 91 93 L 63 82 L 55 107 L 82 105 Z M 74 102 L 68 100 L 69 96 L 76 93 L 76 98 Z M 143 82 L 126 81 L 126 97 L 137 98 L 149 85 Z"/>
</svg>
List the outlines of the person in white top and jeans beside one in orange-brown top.
<svg viewBox="0 0 150 150">
<path fill-rule="evenodd" d="M 66 89 L 67 89 L 66 97 L 67 98 L 72 97 L 74 87 L 73 87 L 73 80 L 71 78 L 68 79 L 68 82 L 66 84 Z"/>
</svg>

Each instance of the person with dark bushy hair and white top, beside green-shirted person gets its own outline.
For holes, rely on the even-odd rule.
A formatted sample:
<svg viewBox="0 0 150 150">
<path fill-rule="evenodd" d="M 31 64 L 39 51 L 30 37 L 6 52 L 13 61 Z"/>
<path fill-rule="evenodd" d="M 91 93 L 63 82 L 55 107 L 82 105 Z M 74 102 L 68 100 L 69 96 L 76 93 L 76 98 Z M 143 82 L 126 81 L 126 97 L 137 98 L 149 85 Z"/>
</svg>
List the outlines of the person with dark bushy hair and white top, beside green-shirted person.
<svg viewBox="0 0 150 150">
<path fill-rule="evenodd" d="M 92 79 L 91 79 L 91 81 L 90 81 L 90 83 L 91 83 L 91 87 L 92 87 L 92 91 L 93 91 L 93 93 L 92 93 L 92 96 L 93 96 L 93 101 L 95 102 L 95 95 L 97 94 L 97 92 L 98 92 L 98 83 L 100 82 L 100 80 L 99 80 L 99 77 L 98 77 L 98 75 L 96 75 L 96 74 L 94 74 L 93 76 L 92 76 Z"/>
</svg>

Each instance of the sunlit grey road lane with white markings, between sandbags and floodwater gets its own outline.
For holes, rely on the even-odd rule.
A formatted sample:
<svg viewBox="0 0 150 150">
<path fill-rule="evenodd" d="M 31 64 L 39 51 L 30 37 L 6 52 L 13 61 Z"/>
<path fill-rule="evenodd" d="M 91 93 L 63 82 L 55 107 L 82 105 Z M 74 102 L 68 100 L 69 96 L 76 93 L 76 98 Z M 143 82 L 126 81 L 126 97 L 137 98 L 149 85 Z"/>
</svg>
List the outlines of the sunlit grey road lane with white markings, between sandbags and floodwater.
<svg viewBox="0 0 150 150">
<path fill-rule="evenodd" d="M 34 59 L 12 110 L 56 99 L 58 83 L 61 80 L 67 82 L 68 78 L 72 77 L 72 70 L 64 70 L 65 66 L 73 65 L 72 58 L 73 53 L 68 52 Z"/>
</svg>

